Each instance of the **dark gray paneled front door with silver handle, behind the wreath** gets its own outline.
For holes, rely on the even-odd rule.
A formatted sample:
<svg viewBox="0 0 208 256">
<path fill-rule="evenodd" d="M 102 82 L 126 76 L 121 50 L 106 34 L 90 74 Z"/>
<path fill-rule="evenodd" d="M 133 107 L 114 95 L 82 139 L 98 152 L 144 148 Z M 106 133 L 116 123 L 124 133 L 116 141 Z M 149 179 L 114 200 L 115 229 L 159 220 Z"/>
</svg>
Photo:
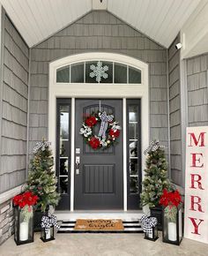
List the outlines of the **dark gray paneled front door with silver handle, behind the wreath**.
<svg viewBox="0 0 208 256">
<path fill-rule="evenodd" d="M 123 209 L 123 132 L 118 143 L 106 150 L 85 144 L 79 129 L 83 117 L 93 112 L 106 111 L 123 125 L 122 100 L 76 100 L 75 109 L 75 162 L 80 157 L 78 170 L 75 167 L 75 209 Z M 99 125 L 94 127 L 98 134 Z M 80 152 L 78 152 L 80 150 Z"/>
</svg>

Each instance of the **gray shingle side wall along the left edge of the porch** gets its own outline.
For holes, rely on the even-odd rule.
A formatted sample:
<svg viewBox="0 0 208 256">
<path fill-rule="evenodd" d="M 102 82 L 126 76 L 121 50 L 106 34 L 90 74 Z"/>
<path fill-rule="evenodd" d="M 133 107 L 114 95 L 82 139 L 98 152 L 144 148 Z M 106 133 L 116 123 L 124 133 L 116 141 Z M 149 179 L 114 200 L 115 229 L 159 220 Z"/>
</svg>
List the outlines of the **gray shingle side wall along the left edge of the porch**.
<svg viewBox="0 0 208 256">
<path fill-rule="evenodd" d="M 2 17 L 0 193 L 26 179 L 29 49 L 11 20 Z"/>
</svg>

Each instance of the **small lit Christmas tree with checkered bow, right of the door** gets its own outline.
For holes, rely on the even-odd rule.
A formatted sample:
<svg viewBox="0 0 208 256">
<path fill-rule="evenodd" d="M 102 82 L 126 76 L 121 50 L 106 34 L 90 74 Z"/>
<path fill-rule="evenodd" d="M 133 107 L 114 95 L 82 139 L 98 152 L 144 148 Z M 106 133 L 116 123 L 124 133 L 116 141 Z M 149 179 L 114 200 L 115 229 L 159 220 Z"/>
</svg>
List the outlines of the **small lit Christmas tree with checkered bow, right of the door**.
<svg viewBox="0 0 208 256">
<path fill-rule="evenodd" d="M 167 161 L 163 148 L 164 146 L 160 145 L 158 140 L 154 140 L 144 152 L 147 157 L 145 179 L 142 182 L 143 190 L 140 194 L 142 206 L 158 206 L 163 189 L 170 187 L 170 181 L 167 178 Z"/>
</svg>

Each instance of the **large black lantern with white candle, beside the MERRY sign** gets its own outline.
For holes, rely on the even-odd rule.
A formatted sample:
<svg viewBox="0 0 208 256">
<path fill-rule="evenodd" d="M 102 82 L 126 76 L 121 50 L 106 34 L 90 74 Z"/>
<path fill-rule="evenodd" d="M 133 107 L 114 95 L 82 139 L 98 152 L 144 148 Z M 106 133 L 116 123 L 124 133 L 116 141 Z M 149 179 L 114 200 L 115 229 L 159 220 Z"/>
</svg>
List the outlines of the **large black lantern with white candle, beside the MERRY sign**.
<svg viewBox="0 0 208 256">
<path fill-rule="evenodd" d="M 162 241 L 172 245 L 182 242 L 182 206 L 163 207 Z"/>
</svg>

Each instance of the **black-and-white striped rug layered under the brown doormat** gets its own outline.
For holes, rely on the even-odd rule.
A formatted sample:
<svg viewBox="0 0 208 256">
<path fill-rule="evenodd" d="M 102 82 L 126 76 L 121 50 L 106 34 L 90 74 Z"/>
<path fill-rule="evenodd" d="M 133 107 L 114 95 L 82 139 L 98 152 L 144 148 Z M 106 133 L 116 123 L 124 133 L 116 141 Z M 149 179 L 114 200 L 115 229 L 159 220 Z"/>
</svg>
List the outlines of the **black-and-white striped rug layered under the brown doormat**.
<svg viewBox="0 0 208 256">
<path fill-rule="evenodd" d="M 90 222 L 90 223 L 95 223 L 97 230 L 95 230 L 94 227 L 91 227 L 91 230 L 88 229 L 86 230 L 84 227 L 83 229 L 76 229 L 76 223 L 78 220 L 70 220 L 70 221 L 63 221 L 60 225 L 60 229 L 57 231 L 57 233 L 143 233 L 142 227 L 141 227 L 141 222 L 139 220 L 120 220 L 123 223 L 123 230 L 110 230 L 109 227 L 108 229 L 100 229 L 98 227 L 98 222 Z M 80 221 L 100 221 L 100 220 L 80 220 Z M 102 221 L 109 221 L 109 220 L 102 220 Z M 111 222 L 114 222 L 115 220 L 110 220 Z M 117 221 L 117 220 L 116 220 Z M 81 222 L 83 223 L 83 222 Z M 105 226 L 109 222 L 105 222 Z M 116 222 L 118 223 L 118 222 Z M 100 222 L 100 226 L 104 225 L 103 222 Z M 116 224 L 117 225 L 117 224 Z M 92 225 L 93 226 L 93 225 Z"/>
</svg>

